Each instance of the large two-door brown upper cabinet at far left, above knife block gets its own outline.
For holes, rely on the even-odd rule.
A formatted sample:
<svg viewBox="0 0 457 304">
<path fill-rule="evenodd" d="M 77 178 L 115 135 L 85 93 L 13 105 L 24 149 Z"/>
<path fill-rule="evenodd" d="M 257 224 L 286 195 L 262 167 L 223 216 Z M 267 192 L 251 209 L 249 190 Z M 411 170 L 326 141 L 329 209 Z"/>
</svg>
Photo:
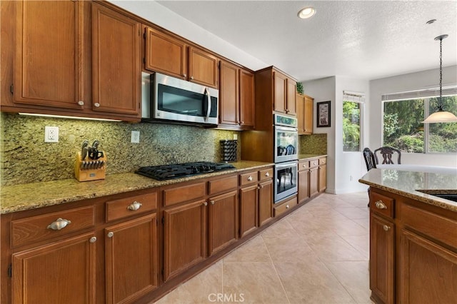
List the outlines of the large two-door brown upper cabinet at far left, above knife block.
<svg viewBox="0 0 457 304">
<path fill-rule="evenodd" d="M 141 24 L 92 1 L 11 2 L 1 111 L 140 120 Z"/>
</svg>

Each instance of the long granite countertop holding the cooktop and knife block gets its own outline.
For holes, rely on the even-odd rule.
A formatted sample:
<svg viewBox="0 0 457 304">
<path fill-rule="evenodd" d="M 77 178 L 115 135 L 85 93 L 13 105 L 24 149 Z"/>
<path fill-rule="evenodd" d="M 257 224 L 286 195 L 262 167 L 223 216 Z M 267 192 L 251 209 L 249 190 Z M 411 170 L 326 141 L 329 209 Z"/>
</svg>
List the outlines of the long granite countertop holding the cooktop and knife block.
<svg viewBox="0 0 457 304">
<path fill-rule="evenodd" d="M 99 198 L 129 191 L 155 188 L 274 165 L 273 163 L 257 161 L 237 161 L 231 164 L 235 166 L 235 169 L 167 181 L 156 181 L 136 173 L 118 173 L 108 175 L 104 180 L 99 181 L 79 182 L 71 178 L 59 181 L 3 186 L 0 190 L 1 214 L 81 201 L 87 198 Z"/>
</svg>

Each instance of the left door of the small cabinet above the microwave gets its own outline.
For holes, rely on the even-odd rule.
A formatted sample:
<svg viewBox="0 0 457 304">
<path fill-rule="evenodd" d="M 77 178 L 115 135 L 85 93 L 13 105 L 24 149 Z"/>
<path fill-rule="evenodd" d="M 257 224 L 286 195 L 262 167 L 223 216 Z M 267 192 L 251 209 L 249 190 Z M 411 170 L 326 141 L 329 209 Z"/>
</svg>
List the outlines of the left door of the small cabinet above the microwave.
<svg viewBox="0 0 457 304">
<path fill-rule="evenodd" d="M 145 69 L 187 79 L 186 43 L 150 27 L 145 35 Z"/>
</svg>

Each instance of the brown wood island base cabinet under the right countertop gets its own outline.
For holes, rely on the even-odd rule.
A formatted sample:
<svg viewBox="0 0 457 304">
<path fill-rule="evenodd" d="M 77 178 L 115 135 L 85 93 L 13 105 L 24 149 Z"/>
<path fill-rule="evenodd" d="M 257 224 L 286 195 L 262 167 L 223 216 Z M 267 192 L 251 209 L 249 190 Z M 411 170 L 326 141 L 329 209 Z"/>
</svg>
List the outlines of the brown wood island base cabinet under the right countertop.
<svg viewBox="0 0 457 304">
<path fill-rule="evenodd" d="M 375 303 L 456 303 L 457 213 L 370 187 Z"/>
</svg>

